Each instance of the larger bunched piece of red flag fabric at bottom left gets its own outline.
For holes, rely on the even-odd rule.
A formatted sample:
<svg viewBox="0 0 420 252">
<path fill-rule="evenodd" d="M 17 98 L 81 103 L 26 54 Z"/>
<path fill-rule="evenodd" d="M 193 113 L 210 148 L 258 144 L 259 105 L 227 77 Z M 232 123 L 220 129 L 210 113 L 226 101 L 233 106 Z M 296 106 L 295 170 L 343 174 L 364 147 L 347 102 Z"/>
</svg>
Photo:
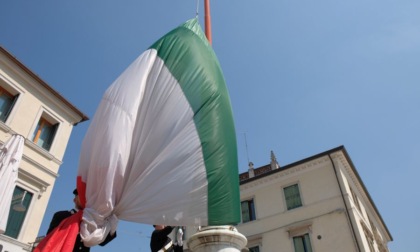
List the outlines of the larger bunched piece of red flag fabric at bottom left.
<svg viewBox="0 0 420 252">
<path fill-rule="evenodd" d="M 64 219 L 35 248 L 34 252 L 72 252 L 76 242 L 83 211 Z"/>
</svg>

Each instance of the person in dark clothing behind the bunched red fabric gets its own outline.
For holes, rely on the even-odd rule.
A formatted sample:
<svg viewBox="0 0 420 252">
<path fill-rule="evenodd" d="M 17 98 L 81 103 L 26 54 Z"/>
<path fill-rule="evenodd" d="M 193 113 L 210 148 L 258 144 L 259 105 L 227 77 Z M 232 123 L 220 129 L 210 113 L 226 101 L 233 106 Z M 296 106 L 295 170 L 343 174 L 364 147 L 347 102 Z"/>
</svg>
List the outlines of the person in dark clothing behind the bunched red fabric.
<svg viewBox="0 0 420 252">
<path fill-rule="evenodd" d="M 74 194 L 74 207 L 75 209 L 72 209 L 70 211 L 59 211 L 56 212 L 50 222 L 50 226 L 48 228 L 47 234 L 49 234 L 51 231 L 54 230 L 54 228 L 56 228 L 58 225 L 60 225 L 61 221 L 63 221 L 64 219 L 66 219 L 67 217 L 70 217 L 71 215 L 77 213 L 77 211 L 79 211 L 80 209 L 82 209 L 81 203 L 80 203 L 80 199 L 79 199 L 79 194 L 77 193 L 77 189 L 74 189 L 73 191 Z M 110 242 L 111 240 L 113 240 L 115 237 L 117 237 L 117 233 L 111 235 L 109 234 L 105 241 L 103 241 L 101 244 L 99 244 L 100 246 L 105 246 L 108 242 Z M 86 247 L 83 244 L 83 241 L 80 237 L 80 234 L 77 235 L 76 237 L 76 242 L 74 244 L 74 248 L 73 248 L 73 252 L 76 251 L 82 251 L 82 252 L 89 252 L 90 251 L 90 247 Z"/>
</svg>

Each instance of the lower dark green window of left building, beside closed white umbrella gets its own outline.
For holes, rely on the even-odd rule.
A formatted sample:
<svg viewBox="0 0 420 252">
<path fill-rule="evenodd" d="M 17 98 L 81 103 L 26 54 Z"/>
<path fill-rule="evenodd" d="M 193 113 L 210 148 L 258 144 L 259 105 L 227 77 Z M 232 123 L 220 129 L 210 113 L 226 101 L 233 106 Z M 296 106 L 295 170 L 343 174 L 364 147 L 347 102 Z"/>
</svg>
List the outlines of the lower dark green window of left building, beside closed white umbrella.
<svg viewBox="0 0 420 252">
<path fill-rule="evenodd" d="M 17 239 L 25 221 L 26 213 L 31 204 L 32 193 L 16 186 L 13 192 L 12 204 L 10 205 L 9 218 L 4 235 Z"/>
</svg>

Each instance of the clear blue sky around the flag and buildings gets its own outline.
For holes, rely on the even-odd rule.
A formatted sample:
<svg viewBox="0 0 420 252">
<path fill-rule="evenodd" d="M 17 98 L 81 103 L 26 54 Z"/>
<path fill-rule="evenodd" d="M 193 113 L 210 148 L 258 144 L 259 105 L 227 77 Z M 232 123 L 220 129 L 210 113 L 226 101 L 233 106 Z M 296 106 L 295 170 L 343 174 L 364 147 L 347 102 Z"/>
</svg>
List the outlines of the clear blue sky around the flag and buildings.
<svg viewBox="0 0 420 252">
<path fill-rule="evenodd" d="M 193 18 L 195 0 L 0 3 L 0 44 L 91 118 L 105 89 L 155 40 Z M 344 145 L 394 241 L 418 251 L 420 1 L 212 0 L 213 48 L 248 158 L 286 165 Z M 199 17 L 203 23 L 203 1 Z M 69 142 L 40 235 L 72 207 L 81 141 Z M 244 135 L 248 144 L 248 155 Z M 93 251 L 150 251 L 152 228 L 120 223 Z"/>
</svg>

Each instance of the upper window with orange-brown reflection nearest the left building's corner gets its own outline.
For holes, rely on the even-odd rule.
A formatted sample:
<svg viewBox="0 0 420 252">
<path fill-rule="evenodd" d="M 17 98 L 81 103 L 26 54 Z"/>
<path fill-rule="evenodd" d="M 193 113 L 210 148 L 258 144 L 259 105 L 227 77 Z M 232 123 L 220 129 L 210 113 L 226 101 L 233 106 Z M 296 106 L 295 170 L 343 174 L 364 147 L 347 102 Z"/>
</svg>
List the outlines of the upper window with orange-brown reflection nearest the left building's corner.
<svg viewBox="0 0 420 252">
<path fill-rule="evenodd" d="M 57 128 L 58 123 L 50 123 L 44 117 L 41 117 L 35 128 L 32 141 L 38 146 L 50 150 Z"/>
</svg>

